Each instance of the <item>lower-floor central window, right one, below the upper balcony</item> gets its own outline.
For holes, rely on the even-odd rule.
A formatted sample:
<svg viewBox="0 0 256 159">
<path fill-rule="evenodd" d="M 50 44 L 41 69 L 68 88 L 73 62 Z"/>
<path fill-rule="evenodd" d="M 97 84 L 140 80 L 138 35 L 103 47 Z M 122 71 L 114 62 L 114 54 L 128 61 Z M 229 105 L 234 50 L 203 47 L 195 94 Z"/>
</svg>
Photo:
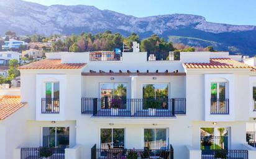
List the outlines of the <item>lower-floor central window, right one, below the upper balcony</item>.
<svg viewBox="0 0 256 159">
<path fill-rule="evenodd" d="M 144 129 L 144 147 L 161 149 L 168 147 L 168 129 Z"/>
</svg>

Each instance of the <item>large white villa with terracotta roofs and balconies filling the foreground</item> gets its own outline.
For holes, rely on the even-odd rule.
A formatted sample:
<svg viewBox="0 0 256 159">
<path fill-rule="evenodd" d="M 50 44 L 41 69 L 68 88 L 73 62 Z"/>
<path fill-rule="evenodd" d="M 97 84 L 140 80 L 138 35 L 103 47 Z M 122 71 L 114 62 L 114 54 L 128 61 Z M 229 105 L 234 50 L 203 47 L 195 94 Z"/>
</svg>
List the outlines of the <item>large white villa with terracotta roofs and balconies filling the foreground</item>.
<svg viewBox="0 0 256 159">
<path fill-rule="evenodd" d="M 42 147 L 57 159 L 256 158 L 254 62 L 137 51 L 47 53 L 19 67 L 20 92 L 0 91 L 0 158 L 40 158 Z"/>
</svg>

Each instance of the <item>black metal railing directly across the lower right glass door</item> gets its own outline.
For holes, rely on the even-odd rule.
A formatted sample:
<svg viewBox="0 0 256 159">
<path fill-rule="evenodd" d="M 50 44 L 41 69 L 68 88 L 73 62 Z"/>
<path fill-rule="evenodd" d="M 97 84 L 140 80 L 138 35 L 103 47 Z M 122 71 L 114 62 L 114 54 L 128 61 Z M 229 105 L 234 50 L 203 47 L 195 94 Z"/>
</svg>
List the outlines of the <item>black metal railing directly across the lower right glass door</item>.
<svg viewBox="0 0 256 159">
<path fill-rule="evenodd" d="M 222 150 L 228 149 L 227 136 L 201 136 L 201 150 Z"/>
</svg>

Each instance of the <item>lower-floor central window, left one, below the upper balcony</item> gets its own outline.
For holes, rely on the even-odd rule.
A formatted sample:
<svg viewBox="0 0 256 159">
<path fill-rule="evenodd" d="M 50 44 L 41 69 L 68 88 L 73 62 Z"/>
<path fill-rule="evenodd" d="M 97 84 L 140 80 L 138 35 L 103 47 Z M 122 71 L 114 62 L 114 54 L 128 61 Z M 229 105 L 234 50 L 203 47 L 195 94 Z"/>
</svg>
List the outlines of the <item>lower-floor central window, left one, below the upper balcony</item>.
<svg viewBox="0 0 256 159">
<path fill-rule="evenodd" d="M 124 129 L 101 129 L 101 148 L 124 148 Z"/>
</svg>

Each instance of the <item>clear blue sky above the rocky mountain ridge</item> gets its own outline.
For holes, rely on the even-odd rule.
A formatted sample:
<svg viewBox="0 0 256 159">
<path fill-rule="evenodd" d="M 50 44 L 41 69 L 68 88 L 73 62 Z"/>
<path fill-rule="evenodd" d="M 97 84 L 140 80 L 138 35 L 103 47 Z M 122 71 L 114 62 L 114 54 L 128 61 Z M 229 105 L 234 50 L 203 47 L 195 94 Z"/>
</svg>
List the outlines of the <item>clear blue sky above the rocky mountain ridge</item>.
<svg viewBox="0 0 256 159">
<path fill-rule="evenodd" d="M 25 0 L 46 6 L 84 4 L 123 14 L 145 17 L 162 14 L 195 14 L 209 22 L 256 25 L 255 0 Z"/>
</svg>

